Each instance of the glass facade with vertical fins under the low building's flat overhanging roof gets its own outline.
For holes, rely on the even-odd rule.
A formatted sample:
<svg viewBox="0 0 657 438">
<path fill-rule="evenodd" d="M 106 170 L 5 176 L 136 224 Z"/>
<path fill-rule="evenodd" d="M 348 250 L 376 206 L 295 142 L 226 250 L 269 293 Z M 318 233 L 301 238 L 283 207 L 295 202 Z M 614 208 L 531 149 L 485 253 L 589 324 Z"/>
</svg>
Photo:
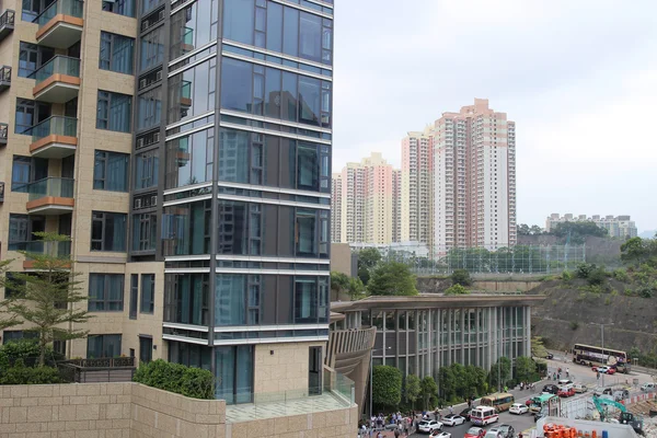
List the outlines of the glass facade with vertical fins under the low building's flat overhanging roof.
<svg viewBox="0 0 657 438">
<path fill-rule="evenodd" d="M 530 355 L 529 306 L 345 313 L 346 328 L 377 327 L 372 364 L 397 367 L 404 376 L 438 378 L 440 367 L 454 362 L 488 370 L 500 356 L 515 364 Z"/>
</svg>

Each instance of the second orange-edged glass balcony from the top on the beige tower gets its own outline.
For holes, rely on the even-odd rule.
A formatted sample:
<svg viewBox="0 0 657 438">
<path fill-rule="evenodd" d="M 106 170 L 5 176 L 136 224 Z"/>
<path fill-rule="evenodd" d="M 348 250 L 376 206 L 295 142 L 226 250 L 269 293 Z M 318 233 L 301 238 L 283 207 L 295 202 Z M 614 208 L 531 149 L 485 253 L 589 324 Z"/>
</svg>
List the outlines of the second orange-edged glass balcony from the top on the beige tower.
<svg viewBox="0 0 657 438">
<path fill-rule="evenodd" d="M 34 99 L 50 103 L 65 103 L 80 92 L 80 59 L 57 55 L 34 73 Z"/>
</svg>

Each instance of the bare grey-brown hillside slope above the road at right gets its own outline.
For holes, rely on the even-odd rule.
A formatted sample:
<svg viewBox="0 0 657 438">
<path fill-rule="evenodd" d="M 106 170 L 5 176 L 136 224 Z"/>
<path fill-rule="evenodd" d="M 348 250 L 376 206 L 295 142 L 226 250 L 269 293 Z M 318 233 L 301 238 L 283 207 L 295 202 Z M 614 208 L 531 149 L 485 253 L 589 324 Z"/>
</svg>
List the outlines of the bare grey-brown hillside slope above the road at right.
<svg viewBox="0 0 657 438">
<path fill-rule="evenodd" d="M 624 285 L 610 281 L 612 292 L 593 293 L 578 289 L 584 280 L 569 285 L 551 280 L 529 293 L 548 296 L 532 310 L 532 335 L 542 336 L 550 348 L 570 349 L 576 343 L 600 345 L 629 351 L 657 351 L 657 298 L 627 297 Z"/>
</svg>

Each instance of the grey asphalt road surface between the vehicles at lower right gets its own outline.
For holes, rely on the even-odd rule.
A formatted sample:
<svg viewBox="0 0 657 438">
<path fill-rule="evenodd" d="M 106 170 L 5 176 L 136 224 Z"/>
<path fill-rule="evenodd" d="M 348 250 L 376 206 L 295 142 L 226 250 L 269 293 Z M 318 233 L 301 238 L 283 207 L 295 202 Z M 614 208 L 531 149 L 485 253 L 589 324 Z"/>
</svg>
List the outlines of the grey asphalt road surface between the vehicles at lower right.
<svg viewBox="0 0 657 438">
<path fill-rule="evenodd" d="M 649 374 L 642 373 L 642 372 L 634 372 L 634 371 L 630 374 L 601 376 L 600 380 L 598 381 L 597 377 L 596 377 L 596 372 L 591 371 L 590 368 L 573 364 L 570 356 L 566 357 L 564 360 L 563 354 L 561 356 L 555 354 L 555 356 L 552 360 L 548 360 L 548 371 L 550 372 L 550 376 L 552 376 L 553 372 L 556 371 L 560 367 L 563 370 L 562 378 L 565 379 L 565 369 L 568 368 L 569 372 L 570 372 L 570 380 L 573 380 L 576 383 L 586 383 L 591 389 L 596 388 L 596 387 L 603 387 L 603 385 L 627 382 L 630 385 L 635 388 L 632 391 L 632 393 L 634 393 L 636 391 L 641 392 L 638 390 L 638 387 L 641 384 L 653 381 L 653 378 Z M 634 384 L 633 384 L 634 379 L 637 379 L 637 382 L 638 382 L 636 387 L 634 387 Z M 543 385 L 548 384 L 548 383 L 555 383 L 555 382 L 552 379 L 550 381 L 542 380 L 542 381 L 535 383 L 534 391 L 530 392 L 527 390 L 525 390 L 525 391 L 511 390 L 510 392 L 516 397 L 516 402 L 525 403 L 525 401 L 527 399 L 538 395 L 540 393 L 541 389 L 543 388 Z M 568 400 L 569 401 L 575 401 L 575 400 L 580 400 L 580 399 L 584 400 L 589 396 L 590 396 L 590 392 L 585 393 L 585 394 L 577 394 L 573 397 L 569 397 Z M 454 406 L 454 412 L 457 412 L 457 413 L 461 412 L 464 407 L 465 407 L 465 405 L 458 406 L 458 407 Z M 443 415 L 447 413 L 448 413 L 447 411 L 442 412 Z M 499 422 L 487 426 L 486 429 L 493 428 L 493 427 L 495 427 L 497 425 L 502 425 L 502 424 L 508 424 L 508 425 L 514 426 L 516 434 L 518 434 L 520 431 L 525 431 L 525 430 L 533 427 L 534 420 L 533 420 L 533 416 L 530 414 L 511 415 L 508 412 L 504 412 L 504 413 L 499 414 Z M 461 426 L 454 426 L 454 427 L 445 426 L 443 431 L 451 434 L 452 438 L 462 438 L 470 427 L 472 427 L 472 424 L 466 422 L 464 425 L 461 425 Z M 412 437 L 426 437 L 426 435 L 414 434 L 414 435 L 412 435 Z"/>
</svg>

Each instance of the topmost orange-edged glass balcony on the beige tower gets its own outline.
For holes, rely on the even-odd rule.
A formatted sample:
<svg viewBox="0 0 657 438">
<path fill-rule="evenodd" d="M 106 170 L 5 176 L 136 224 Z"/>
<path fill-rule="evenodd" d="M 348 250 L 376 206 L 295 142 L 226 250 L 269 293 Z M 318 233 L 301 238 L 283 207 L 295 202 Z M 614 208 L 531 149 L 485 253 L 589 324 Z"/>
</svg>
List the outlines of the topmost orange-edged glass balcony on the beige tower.
<svg viewBox="0 0 657 438">
<path fill-rule="evenodd" d="M 68 48 L 82 37 L 82 8 L 78 0 L 57 0 L 50 3 L 34 22 L 38 24 L 36 42 L 49 47 Z"/>
</svg>

